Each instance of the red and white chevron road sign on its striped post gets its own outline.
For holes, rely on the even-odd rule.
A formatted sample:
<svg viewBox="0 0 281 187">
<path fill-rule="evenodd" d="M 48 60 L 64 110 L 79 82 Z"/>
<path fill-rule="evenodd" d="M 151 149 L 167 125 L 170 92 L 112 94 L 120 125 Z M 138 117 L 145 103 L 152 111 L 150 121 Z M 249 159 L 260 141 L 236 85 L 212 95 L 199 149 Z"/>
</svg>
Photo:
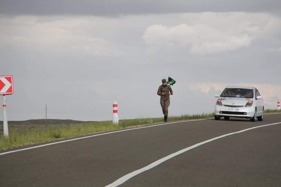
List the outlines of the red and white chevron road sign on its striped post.
<svg viewBox="0 0 281 187">
<path fill-rule="evenodd" d="M 13 89 L 13 76 L 4 75 L 0 76 L 0 95 L 3 95 L 3 130 L 4 136 L 9 138 L 8 131 L 8 120 L 7 120 L 7 110 L 6 110 L 6 95 L 11 95 L 14 92 Z"/>
</svg>

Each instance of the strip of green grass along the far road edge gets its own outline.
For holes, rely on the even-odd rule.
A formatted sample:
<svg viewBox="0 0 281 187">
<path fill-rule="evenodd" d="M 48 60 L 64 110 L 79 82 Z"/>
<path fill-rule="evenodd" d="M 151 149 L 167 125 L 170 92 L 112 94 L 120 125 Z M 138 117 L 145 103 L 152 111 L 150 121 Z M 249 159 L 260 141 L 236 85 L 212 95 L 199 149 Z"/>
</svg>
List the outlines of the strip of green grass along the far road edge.
<svg viewBox="0 0 281 187">
<path fill-rule="evenodd" d="M 266 109 L 265 113 L 280 112 L 280 110 Z M 196 120 L 213 118 L 214 113 L 185 114 L 179 116 L 169 116 L 168 121 Z M 112 121 L 89 122 L 83 124 L 64 124 L 51 127 L 42 127 L 37 129 L 27 129 L 21 131 L 9 131 L 9 138 L 6 139 L 3 132 L 0 133 L 0 151 L 10 148 L 28 146 L 35 143 L 54 141 L 58 139 L 71 138 L 86 134 L 95 134 L 106 131 L 114 131 L 132 128 L 135 126 L 145 126 L 159 124 L 163 122 L 163 117 L 159 118 L 137 118 L 119 120 L 119 124 L 113 124 Z"/>
</svg>

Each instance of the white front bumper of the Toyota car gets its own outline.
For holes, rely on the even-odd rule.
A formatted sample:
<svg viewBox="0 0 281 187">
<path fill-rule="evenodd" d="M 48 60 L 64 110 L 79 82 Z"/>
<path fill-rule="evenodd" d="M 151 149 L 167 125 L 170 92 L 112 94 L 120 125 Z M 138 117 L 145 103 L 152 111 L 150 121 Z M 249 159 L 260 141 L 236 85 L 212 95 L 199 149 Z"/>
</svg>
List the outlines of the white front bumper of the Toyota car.
<svg viewBox="0 0 281 187">
<path fill-rule="evenodd" d="M 217 117 L 229 116 L 229 117 L 244 117 L 244 118 L 251 118 L 254 117 L 255 115 L 255 107 L 231 108 L 233 109 L 231 111 L 227 110 L 227 108 L 231 108 L 231 107 L 216 105 L 215 115 Z M 235 109 L 238 109 L 238 111 L 235 111 Z"/>
</svg>

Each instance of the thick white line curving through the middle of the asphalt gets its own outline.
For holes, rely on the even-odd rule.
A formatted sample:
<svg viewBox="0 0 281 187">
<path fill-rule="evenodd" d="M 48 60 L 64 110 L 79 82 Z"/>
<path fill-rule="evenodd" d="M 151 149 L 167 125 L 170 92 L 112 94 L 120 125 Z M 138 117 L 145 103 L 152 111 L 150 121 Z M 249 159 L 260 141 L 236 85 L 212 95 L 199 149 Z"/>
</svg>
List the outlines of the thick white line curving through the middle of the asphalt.
<svg viewBox="0 0 281 187">
<path fill-rule="evenodd" d="M 252 127 L 252 128 L 249 128 L 249 129 L 244 129 L 244 130 L 237 131 L 237 132 L 232 132 L 232 133 L 229 133 L 229 134 L 224 134 L 224 135 L 222 135 L 222 136 L 217 136 L 217 137 L 215 137 L 215 138 L 212 138 L 212 139 L 209 139 L 209 140 L 206 140 L 206 141 L 197 143 L 197 144 L 195 144 L 195 145 L 193 145 L 193 146 L 190 146 L 190 147 L 188 147 L 188 148 L 179 150 L 179 151 L 177 151 L 176 153 L 173 153 L 173 154 L 168 155 L 168 156 L 166 156 L 166 157 L 164 157 L 164 158 L 161 158 L 161 159 L 159 159 L 159 160 L 157 160 L 157 161 L 151 163 L 151 164 L 148 165 L 148 166 L 145 166 L 145 167 L 143 167 L 143 168 L 141 168 L 141 169 L 138 169 L 138 170 L 133 171 L 133 172 L 131 172 L 131 173 L 129 173 L 129 174 L 126 174 L 126 175 L 122 176 L 121 178 L 117 179 L 116 181 L 114 181 L 113 183 L 111 183 L 111 184 L 109 184 L 109 185 L 107 185 L 107 186 L 105 186 L 105 187 L 116 187 L 116 186 L 119 186 L 119 185 L 123 184 L 124 182 L 126 182 L 127 180 L 131 179 L 132 177 L 134 177 L 134 176 L 136 176 L 136 175 L 138 175 L 138 174 L 140 174 L 140 173 L 142 173 L 142 172 L 144 172 L 144 171 L 147 171 L 147 170 L 149 170 L 149 169 L 151 169 L 151 168 L 153 168 L 153 167 L 155 167 L 155 166 L 161 164 L 162 162 L 165 162 L 166 160 L 168 160 L 168 159 L 170 159 L 170 158 L 173 158 L 173 157 L 175 157 L 175 156 L 177 156 L 177 155 L 179 155 L 179 154 L 181 154 L 181 153 L 184 153 L 184 152 L 186 152 L 186 151 L 188 151 L 188 150 L 191 150 L 191 149 L 193 149 L 193 148 L 196 148 L 196 147 L 198 147 L 198 146 L 201 146 L 201 145 L 203 145 L 203 144 L 205 144 L 205 143 L 208 143 L 208 142 L 217 140 L 217 139 L 219 139 L 219 138 L 223 138 L 223 137 L 225 137 L 225 136 L 230 136 L 230 135 L 233 135 L 233 134 L 238 134 L 238 133 L 245 132 L 245 131 L 249 131 L 249 130 L 252 130 L 252 129 L 256 129 L 256 128 L 260 128 L 260 127 L 265 127 L 265 126 L 270 126 L 270 125 L 276 125 L 276 124 L 281 124 L 281 122 L 279 122 L 279 123 L 273 123 L 273 124 L 267 124 L 267 125 L 261 125 L 261 126 L 257 126 L 257 127 Z"/>
</svg>

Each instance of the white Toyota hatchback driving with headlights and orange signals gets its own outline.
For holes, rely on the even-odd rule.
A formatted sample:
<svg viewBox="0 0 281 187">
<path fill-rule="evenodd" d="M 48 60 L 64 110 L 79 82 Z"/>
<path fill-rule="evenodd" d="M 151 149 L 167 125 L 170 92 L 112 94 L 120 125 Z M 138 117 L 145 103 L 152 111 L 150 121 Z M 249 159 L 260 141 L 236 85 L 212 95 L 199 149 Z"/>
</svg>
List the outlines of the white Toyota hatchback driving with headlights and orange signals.
<svg viewBox="0 0 281 187">
<path fill-rule="evenodd" d="M 255 87 L 227 86 L 215 105 L 215 120 L 224 117 L 248 118 L 252 122 L 263 121 L 263 98 Z"/>
</svg>

